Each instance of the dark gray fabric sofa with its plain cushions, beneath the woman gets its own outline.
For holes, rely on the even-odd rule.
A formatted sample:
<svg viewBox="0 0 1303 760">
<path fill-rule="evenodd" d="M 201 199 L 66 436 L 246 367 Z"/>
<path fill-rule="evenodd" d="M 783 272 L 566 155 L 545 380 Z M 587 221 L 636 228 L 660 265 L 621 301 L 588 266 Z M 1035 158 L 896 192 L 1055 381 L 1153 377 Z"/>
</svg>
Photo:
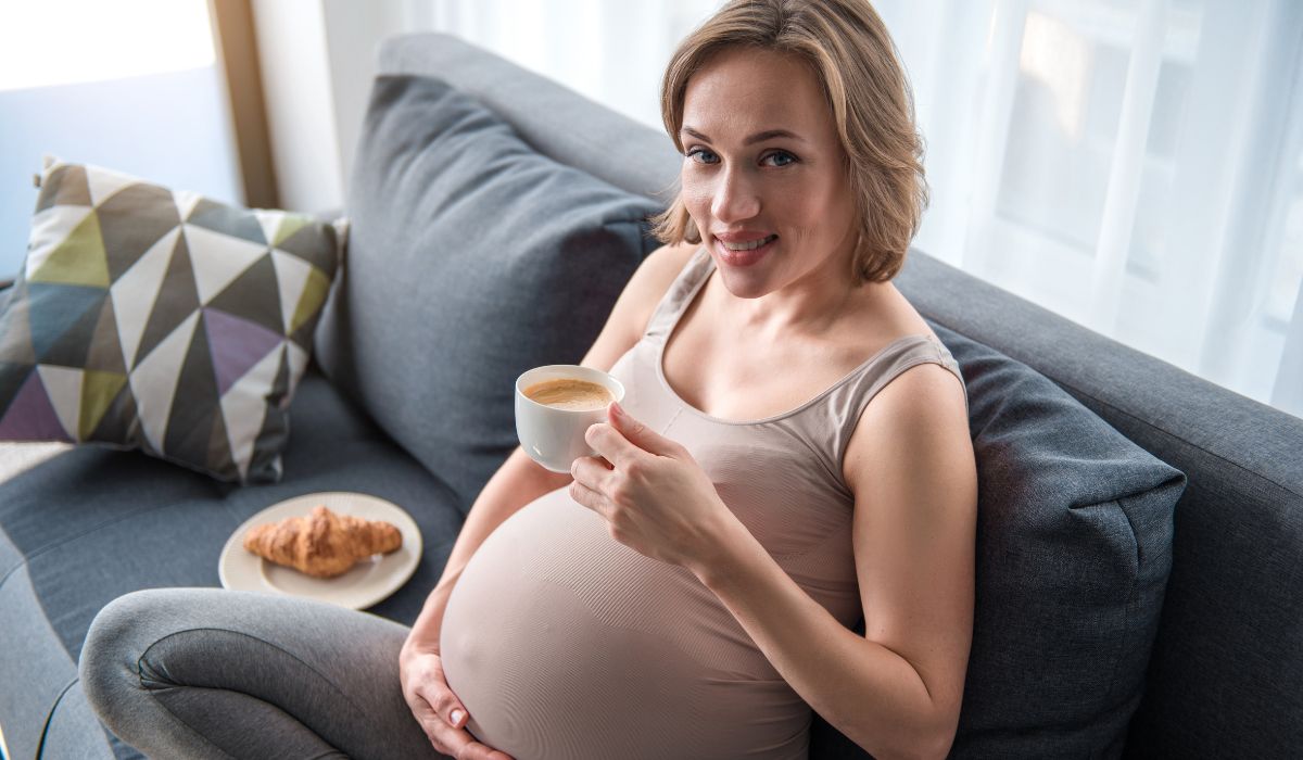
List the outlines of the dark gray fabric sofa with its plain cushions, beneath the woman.
<svg viewBox="0 0 1303 760">
<path fill-rule="evenodd" d="M 474 300 L 489 280 L 435 282 L 434 270 L 421 267 L 442 256 L 437 245 L 404 258 L 404 241 L 426 240 L 422 227 L 468 206 L 417 203 L 399 219 L 383 216 L 394 196 L 375 194 L 421 192 L 387 185 L 387 175 L 371 171 L 401 158 L 375 141 L 412 124 L 386 123 L 384 110 L 455 106 L 447 129 L 481 128 L 489 116 L 451 100 L 443 85 L 412 99 L 413 78 L 442 80 L 509 124 L 495 139 L 519 139 L 652 209 L 663 203 L 680 159 L 663 134 L 450 37 L 387 40 L 380 72 L 390 78 L 378 81 L 364 137 L 373 142 L 358 151 L 345 209 L 354 222 L 347 274 L 291 407 L 280 482 L 241 488 L 99 447 L 0 446 L 0 730 L 8 756 L 137 756 L 102 729 L 78 686 L 90 621 L 134 589 L 219 585 L 227 537 L 280 499 L 356 490 L 404 506 L 425 554 L 410 581 L 370 611 L 414 619 L 476 490 L 509 451 L 509 390 L 481 388 L 485 373 L 476 368 L 500 366 L 498 382 L 513 362 L 577 360 L 637 263 L 629 252 L 650 250 L 602 206 L 606 237 L 559 235 L 566 250 L 624 252 L 605 267 L 601 287 L 579 291 L 582 300 L 564 288 L 584 278 L 588 261 L 560 275 L 519 261 L 500 271 L 474 257 L 457 265 L 465 282 L 494 276 L 542 309 L 530 315 L 539 340 L 526 348 L 534 353 L 517 356 L 525 349 L 513 349 L 499 334 L 504 322 L 494 321 L 494 309 L 503 319 L 521 309 L 507 302 L 515 299 Z M 631 203 L 623 214 L 640 207 Z M 551 222 L 566 223 L 555 214 Z M 483 232 L 457 229 L 459 250 L 473 249 Z M 567 256 L 556 261 L 580 253 Z M 395 283 L 410 293 L 384 289 Z M 529 289 L 532 283 L 546 287 Z M 960 360 L 980 443 L 979 615 L 954 755 L 1303 753 L 1303 421 L 925 252 L 911 252 L 898 284 Z M 550 288 L 569 300 L 550 302 Z M 446 305 L 459 297 L 470 299 L 481 318 L 459 322 L 464 312 Z M 387 343 L 395 335 L 408 343 Z M 448 343 L 410 345 L 423 335 Z M 481 390 L 483 399 L 463 404 L 472 411 L 464 417 L 456 417 L 457 399 L 447 415 L 430 412 L 448 402 L 440 395 Z M 1019 454 L 1029 450 L 1020 443 L 1028 437 L 1052 455 Z M 1102 443 L 1079 448 L 1083 439 Z M 1068 491 L 1087 495 L 1050 510 Z M 1076 707 L 1095 692 L 1101 708 Z M 810 755 L 864 756 L 817 717 Z"/>
</svg>

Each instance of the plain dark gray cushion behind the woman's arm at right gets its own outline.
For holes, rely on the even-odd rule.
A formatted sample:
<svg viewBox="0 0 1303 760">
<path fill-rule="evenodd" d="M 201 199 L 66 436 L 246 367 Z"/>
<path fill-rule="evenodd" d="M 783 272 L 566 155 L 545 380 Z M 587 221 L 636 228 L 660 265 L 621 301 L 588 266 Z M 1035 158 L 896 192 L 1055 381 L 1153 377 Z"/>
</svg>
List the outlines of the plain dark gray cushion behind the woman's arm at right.
<svg viewBox="0 0 1303 760">
<path fill-rule="evenodd" d="M 933 323 L 968 386 L 977 609 L 956 757 L 1118 756 L 1184 476 L 1027 365 Z M 812 756 L 863 757 L 820 721 Z"/>
</svg>

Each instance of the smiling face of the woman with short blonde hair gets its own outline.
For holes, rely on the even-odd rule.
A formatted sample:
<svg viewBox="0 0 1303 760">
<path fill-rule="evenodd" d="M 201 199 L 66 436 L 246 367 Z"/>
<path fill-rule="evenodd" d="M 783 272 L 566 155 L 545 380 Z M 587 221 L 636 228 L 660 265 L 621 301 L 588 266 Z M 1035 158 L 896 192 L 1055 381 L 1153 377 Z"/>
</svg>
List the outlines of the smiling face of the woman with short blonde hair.
<svg viewBox="0 0 1303 760">
<path fill-rule="evenodd" d="M 731 48 L 684 95 L 683 199 L 735 296 L 851 283 L 855 203 L 814 73 L 783 53 Z"/>
</svg>

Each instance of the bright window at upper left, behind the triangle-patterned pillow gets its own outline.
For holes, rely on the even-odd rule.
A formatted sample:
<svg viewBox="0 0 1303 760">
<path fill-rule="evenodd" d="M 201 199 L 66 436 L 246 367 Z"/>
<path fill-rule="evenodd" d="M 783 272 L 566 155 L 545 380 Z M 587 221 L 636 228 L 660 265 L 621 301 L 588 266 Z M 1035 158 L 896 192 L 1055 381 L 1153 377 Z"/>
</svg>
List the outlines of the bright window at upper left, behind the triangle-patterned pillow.
<svg viewBox="0 0 1303 760">
<path fill-rule="evenodd" d="M 0 279 L 17 274 L 42 156 L 238 203 L 206 0 L 0 5 Z"/>
</svg>

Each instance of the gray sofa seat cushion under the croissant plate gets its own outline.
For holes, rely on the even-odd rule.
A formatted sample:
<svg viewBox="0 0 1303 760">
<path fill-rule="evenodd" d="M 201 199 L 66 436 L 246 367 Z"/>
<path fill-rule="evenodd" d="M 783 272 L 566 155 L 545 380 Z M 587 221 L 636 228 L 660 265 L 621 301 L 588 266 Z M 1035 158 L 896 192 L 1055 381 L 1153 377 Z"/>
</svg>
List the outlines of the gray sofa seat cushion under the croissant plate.
<svg viewBox="0 0 1303 760">
<path fill-rule="evenodd" d="M 410 623 L 461 525 L 447 485 L 384 435 L 319 372 L 294 396 L 296 424 L 275 485 L 236 486 L 137 451 L 77 447 L 0 484 L 0 726 L 31 757 L 76 680 L 81 644 L 112 598 L 152 587 L 218 587 L 231 533 L 259 510 L 315 491 L 361 491 L 401 506 L 425 551 L 407 584 L 369 611 Z M 9 445 L 14 446 L 14 445 Z M 36 665 L 39 664 L 39 666 Z M 61 697 L 61 699 L 60 699 Z"/>
</svg>

